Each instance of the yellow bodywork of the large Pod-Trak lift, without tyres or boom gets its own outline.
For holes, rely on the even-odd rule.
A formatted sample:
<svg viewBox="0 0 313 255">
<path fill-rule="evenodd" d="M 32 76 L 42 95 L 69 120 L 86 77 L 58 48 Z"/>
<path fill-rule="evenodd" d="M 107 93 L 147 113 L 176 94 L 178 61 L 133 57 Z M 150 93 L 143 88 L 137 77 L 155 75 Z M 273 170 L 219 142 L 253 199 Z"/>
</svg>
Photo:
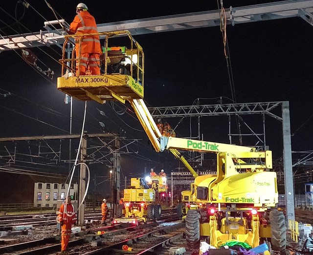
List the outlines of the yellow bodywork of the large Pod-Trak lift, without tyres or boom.
<svg viewBox="0 0 313 255">
<path fill-rule="evenodd" d="M 217 153 L 217 175 L 199 176 L 189 191 L 181 192 L 186 214 L 198 210 L 201 217 L 207 215 L 200 236 L 209 236 L 215 247 L 229 240 L 256 247 L 261 237 L 271 237 L 270 225 L 261 224 L 259 216 L 278 203 L 277 175 L 270 168 L 270 151 Z"/>
</svg>

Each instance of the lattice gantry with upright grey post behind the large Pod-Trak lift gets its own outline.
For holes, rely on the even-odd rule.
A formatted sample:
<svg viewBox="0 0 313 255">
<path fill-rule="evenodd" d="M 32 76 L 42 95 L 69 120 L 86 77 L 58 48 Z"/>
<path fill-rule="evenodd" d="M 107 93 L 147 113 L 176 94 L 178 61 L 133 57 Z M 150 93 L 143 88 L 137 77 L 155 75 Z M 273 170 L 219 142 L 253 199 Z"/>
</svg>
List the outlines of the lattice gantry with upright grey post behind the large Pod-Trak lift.
<svg viewBox="0 0 313 255">
<path fill-rule="evenodd" d="M 279 109 L 280 108 L 280 109 Z M 284 148 L 285 194 L 287 199 L 287 219 L 294 220 L 294 188 L 291 160 L 291 127 L 289 102 L 242 103 L 224 105 L 193 105 L 149 107 L 151 115 L 156 118 L 204 117 L 217 115 L 266 114 L 282 123 Z M 278 115 L 277 110 L 280 110 Z"/>
</svg>

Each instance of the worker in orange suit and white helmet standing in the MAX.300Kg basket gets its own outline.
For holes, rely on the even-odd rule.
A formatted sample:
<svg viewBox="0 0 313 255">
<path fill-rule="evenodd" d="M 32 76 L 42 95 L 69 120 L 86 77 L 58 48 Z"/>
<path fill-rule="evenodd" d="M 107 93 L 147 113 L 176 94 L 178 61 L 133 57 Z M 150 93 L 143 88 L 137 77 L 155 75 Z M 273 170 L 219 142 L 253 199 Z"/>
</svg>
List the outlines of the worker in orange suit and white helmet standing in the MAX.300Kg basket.
<svg viewBox="0 0 313 255">
<path fill-rule="evenodd" d="M 76 7 L 76 13 L 73 22 L 70 23 L 69 34 L 93 34 L 98 33 L 97 24 L 92 15 L 88 12 L 87 5 L 79 3 Z M 79 75 L 86 75 L 89 69 L 91 75 L 100 74 L 100 54 L 101 45 L 98 35 L 86 35 L 81 37 L 81 52 L 79 48 L 79 40 L 75 39 L 76 58 L 80 58 Z M 81 53 L 81 55 L 80 55 Z M 76 72 L 78 71 L 78 63 L 76 63 Z M 78 74 L 76 74 L 78 75 Z"/>
</svg>

